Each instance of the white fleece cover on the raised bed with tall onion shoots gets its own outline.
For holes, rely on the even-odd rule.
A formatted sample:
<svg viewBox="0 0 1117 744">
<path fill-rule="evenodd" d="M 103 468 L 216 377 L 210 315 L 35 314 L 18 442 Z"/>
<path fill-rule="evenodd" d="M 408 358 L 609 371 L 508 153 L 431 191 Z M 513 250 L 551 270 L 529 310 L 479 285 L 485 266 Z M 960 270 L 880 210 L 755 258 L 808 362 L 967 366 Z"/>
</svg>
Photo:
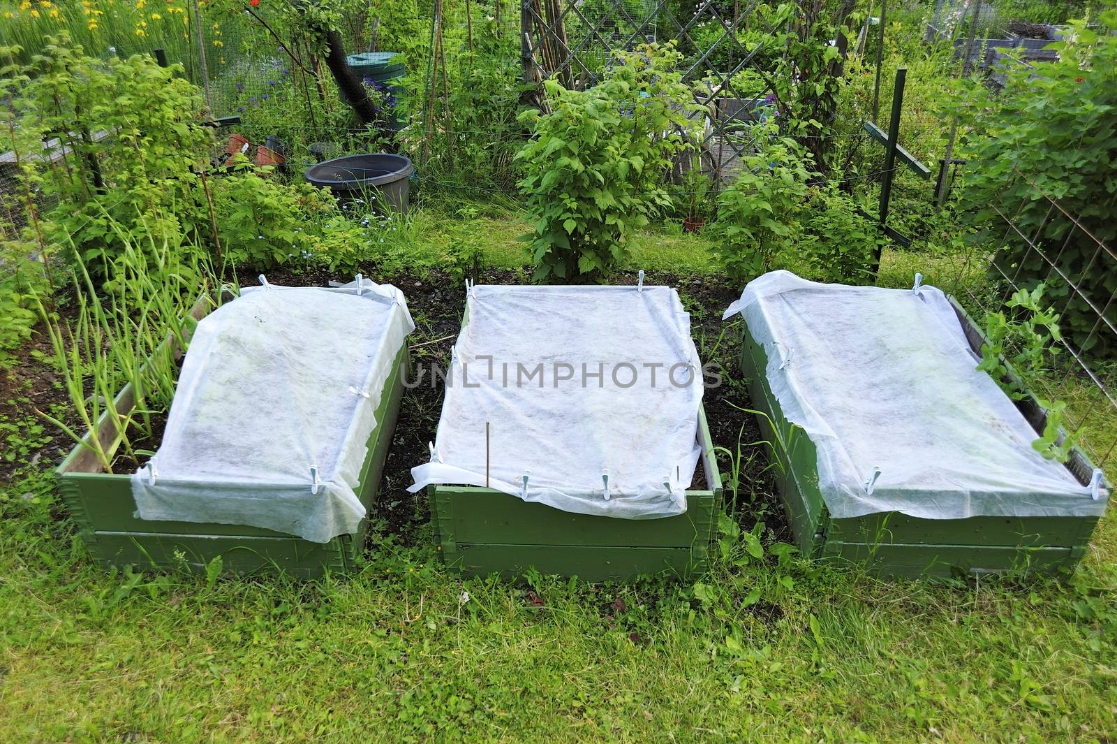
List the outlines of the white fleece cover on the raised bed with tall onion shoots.
<svg viewBox="0 0 1117 744">
<path fill-rule="evenodd" d="M 163 442 L 132 476 L 140 517 L 355 532 L 381 391 L 413 330 L 403 294 L 361 277 L 244 289 L 194 331 Z"/>
</svg>

